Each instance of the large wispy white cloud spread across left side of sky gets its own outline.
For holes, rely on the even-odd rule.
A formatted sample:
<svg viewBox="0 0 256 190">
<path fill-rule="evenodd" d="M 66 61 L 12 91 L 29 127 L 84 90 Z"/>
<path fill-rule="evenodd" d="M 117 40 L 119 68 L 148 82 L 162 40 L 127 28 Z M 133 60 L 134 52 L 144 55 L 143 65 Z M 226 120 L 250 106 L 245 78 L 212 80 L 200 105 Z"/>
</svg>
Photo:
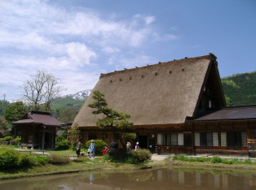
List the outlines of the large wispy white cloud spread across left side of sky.
<svg viewBox="0 0 256 190">
<path fill-rule="evenodd" d="M 37 70 L 64 79 L 68 93 L 92 89 L 101 68 L 108 72 L 150 61 L 136 51 L 153 38 L 162 39 L 152 28 L 155 21 L 152 15 L 120 19 L 46 0 L 1 1 L 0 89 L 9 85 L 17 96 L 20 83 Z"/>
</svg>

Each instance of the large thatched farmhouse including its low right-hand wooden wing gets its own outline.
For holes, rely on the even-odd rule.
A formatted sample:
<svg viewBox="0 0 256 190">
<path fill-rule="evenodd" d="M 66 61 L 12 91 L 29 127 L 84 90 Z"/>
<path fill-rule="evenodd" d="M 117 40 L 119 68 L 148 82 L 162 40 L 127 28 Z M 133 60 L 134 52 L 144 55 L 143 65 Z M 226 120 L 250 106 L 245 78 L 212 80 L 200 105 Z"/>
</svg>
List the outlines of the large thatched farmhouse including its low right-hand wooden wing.
<svg viewBox="0 0 256 190">
<path fill-rule="evenodd" d="M 113 110 L 131 115 L 141 148 L 157 153 L 254 153 L 256 106 L 226 107 L 216 59 L 210 54 L 102 74 L 93 91 L 104 93 Z M 91 93 L 73 123 L 84 141 L 109 144 L 114 134 L 95 126 L 104 115 L 91 113 L 87 105 L 93 101 Z"/>
</svg>

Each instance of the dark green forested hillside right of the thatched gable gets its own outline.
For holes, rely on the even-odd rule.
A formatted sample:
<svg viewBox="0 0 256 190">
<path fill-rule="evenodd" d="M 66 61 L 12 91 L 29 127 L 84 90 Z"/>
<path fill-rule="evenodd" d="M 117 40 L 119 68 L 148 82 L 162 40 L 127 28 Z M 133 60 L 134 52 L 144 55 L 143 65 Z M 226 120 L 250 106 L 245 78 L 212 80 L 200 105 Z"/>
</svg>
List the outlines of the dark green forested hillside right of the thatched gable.
<svg viewBox="0 0 256 190">
<path fill-rule="evenodd" d="M 256 104 L 256 71 L 222 78 L 227 106 Z"/>
</svg>

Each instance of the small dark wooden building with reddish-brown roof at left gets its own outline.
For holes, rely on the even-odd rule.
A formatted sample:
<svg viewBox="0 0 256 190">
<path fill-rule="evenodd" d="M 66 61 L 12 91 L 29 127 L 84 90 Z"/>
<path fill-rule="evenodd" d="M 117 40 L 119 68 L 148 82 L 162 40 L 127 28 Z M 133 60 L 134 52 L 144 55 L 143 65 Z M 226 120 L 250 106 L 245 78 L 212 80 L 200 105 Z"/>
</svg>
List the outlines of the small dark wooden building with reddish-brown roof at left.
<svg viewBox="0 0 256 190">
<path fill-rule="evenodd" d="M 51 113 L 32 110 L 24 117 L 12 123 L 15 133 L 21 137 L 21 145 L 32 149 L 54 149 L 56 128 L 62 127 Z"/>
</svg>

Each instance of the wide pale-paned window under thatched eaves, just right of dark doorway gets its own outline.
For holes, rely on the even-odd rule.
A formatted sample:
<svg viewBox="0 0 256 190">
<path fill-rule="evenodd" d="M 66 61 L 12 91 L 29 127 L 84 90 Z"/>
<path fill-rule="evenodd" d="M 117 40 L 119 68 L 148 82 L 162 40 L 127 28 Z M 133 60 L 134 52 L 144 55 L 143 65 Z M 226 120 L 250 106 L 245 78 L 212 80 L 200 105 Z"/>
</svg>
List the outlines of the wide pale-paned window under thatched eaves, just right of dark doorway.
<svg viewBox="0 0 256 190">
<path fill-rule="evenodd" d="M 157 134 L 157 145 L 175 146 L 183 144 L 183 133 Z"/>
</svg>

